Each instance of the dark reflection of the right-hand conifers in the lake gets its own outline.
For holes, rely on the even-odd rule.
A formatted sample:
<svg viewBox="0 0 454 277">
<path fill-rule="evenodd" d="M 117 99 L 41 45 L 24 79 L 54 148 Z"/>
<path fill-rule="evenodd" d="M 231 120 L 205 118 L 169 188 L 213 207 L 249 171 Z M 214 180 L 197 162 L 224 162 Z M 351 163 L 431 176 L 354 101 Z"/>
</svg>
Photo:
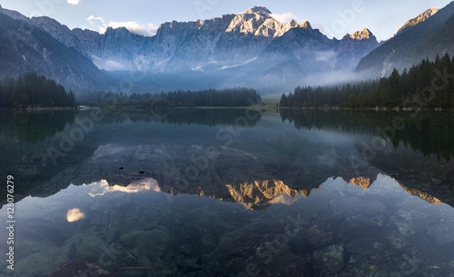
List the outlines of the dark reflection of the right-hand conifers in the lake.
<svg viewBox="0 0 454 277">
<path fill-rule="evenodd" d="M 396 148 L 403 143 L 405 147 L 410 146 L 427 157 L 434 154 L 447 162 L 454 157 L 454 117 L 444 113 L 427 111 L 412 116 L 412 113 L 396 111 L 281 109 L 280 114 L 282 122 L 294 124 L 297 129 L 381 136 L 389 139 Z M 386 130 L 397 116 L 405 122 L 403 130 L 378 131 Z"/>
</svg>

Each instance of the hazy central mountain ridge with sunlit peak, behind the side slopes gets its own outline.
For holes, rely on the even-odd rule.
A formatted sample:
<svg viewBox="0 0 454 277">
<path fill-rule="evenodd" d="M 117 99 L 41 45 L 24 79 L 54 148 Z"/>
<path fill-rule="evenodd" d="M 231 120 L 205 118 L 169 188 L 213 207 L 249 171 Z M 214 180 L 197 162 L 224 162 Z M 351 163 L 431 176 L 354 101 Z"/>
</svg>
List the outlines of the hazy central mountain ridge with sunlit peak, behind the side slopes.
<svg viewBox="0 0 454 277">
<path fill-rule="evenodd" d="M 50 17 L 28 18 L 5 9 L 0 9 L 0 13 L 33 25 L 64 47 L 82 54 L 99 70 L 92 72 L 94 75 L 138 71 L 149 79 L 155 74 L 200 72 L 226 74 L 226 81 L 218 84 L 225 86 L 290 81 L 296 84 L 309 74 L 308 65 L 313 73 L 351 71 L 364 53 L 378 45 L 367 28 L 353 33 L 354 39 L 330 39 L 308 21 L 301 25 L 295 20 L 280 23 L 262 6 L 252 6 L 238 15 L 166 22 L 153 36 L 135 35 L 124 27 L 109 27 L 104 34 L 71 30 Z M 280 46 L 283 48 L 278 49 Z M 92 88 L 80 81 L 74 85 Z"/>
</svg>

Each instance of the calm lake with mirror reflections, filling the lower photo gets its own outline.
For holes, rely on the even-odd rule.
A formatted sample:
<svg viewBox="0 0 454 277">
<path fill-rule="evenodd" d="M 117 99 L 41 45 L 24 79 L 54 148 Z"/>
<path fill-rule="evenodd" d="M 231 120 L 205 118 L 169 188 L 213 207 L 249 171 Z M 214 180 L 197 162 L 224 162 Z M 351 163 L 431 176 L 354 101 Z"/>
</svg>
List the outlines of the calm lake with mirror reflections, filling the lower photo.
<svg viewBox="0 0 454 277">
<path fill-rule="evenodd" d="M 453 115 L 0 111 L 1 274 L 454 276 Z"/>
</svg>

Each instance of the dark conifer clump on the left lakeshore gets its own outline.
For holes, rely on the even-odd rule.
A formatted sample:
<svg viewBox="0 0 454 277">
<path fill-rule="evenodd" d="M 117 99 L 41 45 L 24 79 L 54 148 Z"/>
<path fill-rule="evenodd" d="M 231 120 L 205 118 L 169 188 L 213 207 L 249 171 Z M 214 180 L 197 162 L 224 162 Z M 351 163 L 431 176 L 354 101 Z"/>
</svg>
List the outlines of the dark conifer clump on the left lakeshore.
<svg viewBox="0 0 454 277">
<path fill-rule="evenodd" d="M 29 106 L 74 106 L 74 93 L 66 93 L 64 86 L 44 75 L 29 73 L 17 79 L 0 80 L 0 107 L 25 108 Z"/>
</svg>

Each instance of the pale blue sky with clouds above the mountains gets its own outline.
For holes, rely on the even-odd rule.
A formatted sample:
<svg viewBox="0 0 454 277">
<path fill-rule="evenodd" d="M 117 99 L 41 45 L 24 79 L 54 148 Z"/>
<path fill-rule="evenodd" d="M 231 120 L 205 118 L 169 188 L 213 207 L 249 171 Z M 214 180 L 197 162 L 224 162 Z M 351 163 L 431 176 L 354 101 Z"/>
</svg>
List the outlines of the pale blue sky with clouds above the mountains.
<svg viewBox="0 0 454 277">
<path fill-rule="evenodd" d="M 332 38 L 369 28 L 379 41 L 389 39 L 409 19 L 449 0 L 0 0 L 3 8 L 31 17 L 46 15 L 63 25 L 104 33 L 107 26 L 126 26 L 132 33 L 154 35 L 169 21 L 195 21 L 240 14 L 252 5 L 266 6 L 285 23 L 308 20 Z"/>
</svg>

